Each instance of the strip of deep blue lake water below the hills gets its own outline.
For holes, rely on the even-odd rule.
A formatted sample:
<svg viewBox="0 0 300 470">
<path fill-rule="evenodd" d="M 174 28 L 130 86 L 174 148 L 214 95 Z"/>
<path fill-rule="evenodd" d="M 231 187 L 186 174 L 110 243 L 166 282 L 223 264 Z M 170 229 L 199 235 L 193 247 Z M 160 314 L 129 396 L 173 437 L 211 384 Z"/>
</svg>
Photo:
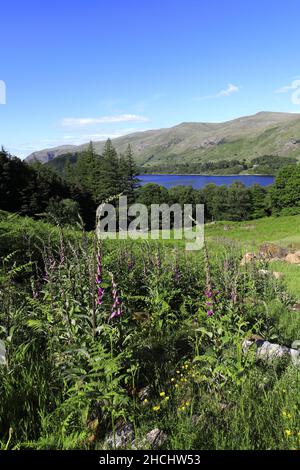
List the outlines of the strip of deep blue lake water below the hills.
<svg viewBox="0 0 300 470">
<path fill-rule="evenodd" d="M 194 189 L 203 188 L 209 183 L 218 186 L 222 184 L 229 185 L 234 181 L 241 181 L 245 186 L 260 184 L 268 186 L 274 182 L 274 176 L 267 175 L 230 175 L 230 176 L 204 176 L 204 175 L 140 175 L 141 184 L 156 183 L 165 188 L 173 186 L 192 186 Z"/>
</svg>

